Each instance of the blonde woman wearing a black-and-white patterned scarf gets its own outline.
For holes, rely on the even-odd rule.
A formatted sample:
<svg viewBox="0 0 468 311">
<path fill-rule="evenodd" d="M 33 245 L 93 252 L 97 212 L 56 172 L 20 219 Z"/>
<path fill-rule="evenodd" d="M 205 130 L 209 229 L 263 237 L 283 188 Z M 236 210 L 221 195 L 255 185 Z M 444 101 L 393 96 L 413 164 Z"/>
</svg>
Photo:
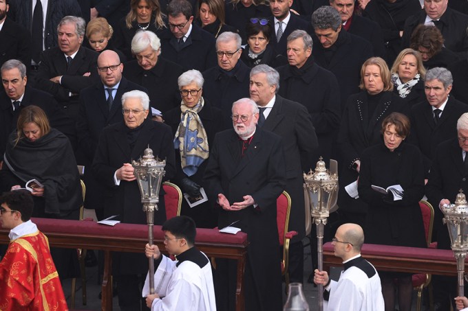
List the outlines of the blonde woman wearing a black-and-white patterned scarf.
<svg viewBox="0 0 468 311">
<path fill-rule="evenodd" d="M 403 49 L 396 56 L 392 69 L 392 83 L 394 93 L 404 98 L 409 106 L 425 100 L 424 76 L 421 53 L 414 49 Z"/>
</svg>

